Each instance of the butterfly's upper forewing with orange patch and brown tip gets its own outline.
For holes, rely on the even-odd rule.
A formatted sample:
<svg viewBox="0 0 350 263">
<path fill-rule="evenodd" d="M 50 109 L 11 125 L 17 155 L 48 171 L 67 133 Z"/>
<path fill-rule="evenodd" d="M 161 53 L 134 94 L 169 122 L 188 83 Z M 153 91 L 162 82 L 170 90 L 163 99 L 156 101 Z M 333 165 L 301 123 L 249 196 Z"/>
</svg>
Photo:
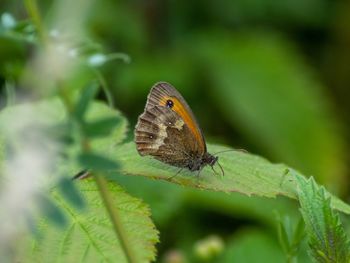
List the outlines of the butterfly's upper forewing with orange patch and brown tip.
<svg viewBox="0 0 350 263">
<path fill-rule="evenodd" d="M 206 143 L 202 131 L 197 124 L 196 118 L 185 99 L 172 85 L 167 82 L 156 83 L 148 95 L 145 112 L 155 106 L 167 107 L 167 102 L 169 100 L 173 103 L 173 107 L 170 109 L 177 113 L 184 121 L 189 132 L 194 137 L 195 142 L 198 144 L 199 151 L 205 153 L 207 151 Z"/>
</svg>

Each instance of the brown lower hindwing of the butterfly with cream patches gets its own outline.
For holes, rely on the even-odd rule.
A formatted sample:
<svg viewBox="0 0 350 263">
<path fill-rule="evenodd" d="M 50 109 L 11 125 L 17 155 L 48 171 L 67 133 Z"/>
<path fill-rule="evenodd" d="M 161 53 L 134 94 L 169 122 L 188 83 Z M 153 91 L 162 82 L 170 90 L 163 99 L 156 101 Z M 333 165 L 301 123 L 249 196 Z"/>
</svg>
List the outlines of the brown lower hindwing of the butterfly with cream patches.
<svg viewBox="0 0 350 263">
<path fill-rule="evenodd" d="M 135 142 L 141 155 L 178 167 L 186 167 L 203 154 L 184 120 L 164 106 L 145 109 L 136 125 Z"/>
</svg>

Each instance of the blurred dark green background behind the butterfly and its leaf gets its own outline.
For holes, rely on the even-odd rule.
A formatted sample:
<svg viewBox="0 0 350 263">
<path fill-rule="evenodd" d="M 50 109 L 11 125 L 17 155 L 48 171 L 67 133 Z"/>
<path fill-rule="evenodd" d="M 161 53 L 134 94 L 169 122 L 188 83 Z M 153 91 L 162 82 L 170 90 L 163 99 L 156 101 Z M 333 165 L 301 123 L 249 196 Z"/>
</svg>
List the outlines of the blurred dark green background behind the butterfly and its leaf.
<svg viewBox="0 0 350 263">
<path fill-rule="evenodd" d="M 49 21 L 53 3 L 39 4 Z M 21 1 L 0 7 L 18 20 L 27 17 Z M 104 52 L 131 58 L 100 68 L 130 122 L 129 140 L 151 86 L 168 81 L 207 141 L 286 163 L 349 201 L 349 12 L 350 2 L 340 0 L 100 0 L 83 28 Z M 32 51 L 28 42 L 1 36 L 0 107 L 8 80 L 25 91 L 17 84 Z M 215 234 L 227 247 L 218 261 L 281 262 L 274 211 L 297 220 L 296 204 L 282 198 L 116 180 L 150 204 L 161 233 L 159 261 L 198 260 L 196 242 Z M 254 258 L 251 249 L 262 252 Z"/>
</svg>

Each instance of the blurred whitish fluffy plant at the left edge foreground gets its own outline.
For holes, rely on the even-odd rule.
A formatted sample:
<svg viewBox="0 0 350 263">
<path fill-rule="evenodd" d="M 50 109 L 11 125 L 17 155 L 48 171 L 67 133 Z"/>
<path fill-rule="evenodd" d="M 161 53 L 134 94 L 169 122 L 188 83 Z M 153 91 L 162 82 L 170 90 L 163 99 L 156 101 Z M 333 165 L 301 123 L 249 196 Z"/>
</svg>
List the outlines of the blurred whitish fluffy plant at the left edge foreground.
<svg viewBox="0 0 350 263">
<path fill-rule="evenodd" d="M 0 117 L 0 252 L 5 255 L 28 227 L 38 197 L 55 180 L 50 175 L 59 152 L 58 144 L 36 121 L 45 112 L 30 107 L 7 111 Z"/>
</svg>

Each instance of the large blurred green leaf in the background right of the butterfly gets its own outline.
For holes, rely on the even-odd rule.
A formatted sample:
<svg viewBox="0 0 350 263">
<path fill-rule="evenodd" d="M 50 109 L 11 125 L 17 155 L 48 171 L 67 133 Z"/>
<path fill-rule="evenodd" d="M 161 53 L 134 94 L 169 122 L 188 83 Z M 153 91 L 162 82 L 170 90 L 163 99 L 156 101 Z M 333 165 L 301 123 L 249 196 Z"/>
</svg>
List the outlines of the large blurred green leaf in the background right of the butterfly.
<svg viewBox="0 0 350 263">
<path fill-rule="evenodd" d="M 213 99 L 235 129 L 274 160 L 315 175 L 333 191 L 345 189 L 339 118 L 288 40 L 263 31 L 213 34 L 208 41 L 206 32 L 196 43 L 193 51 L 209 65 Z"/>
</svg>

